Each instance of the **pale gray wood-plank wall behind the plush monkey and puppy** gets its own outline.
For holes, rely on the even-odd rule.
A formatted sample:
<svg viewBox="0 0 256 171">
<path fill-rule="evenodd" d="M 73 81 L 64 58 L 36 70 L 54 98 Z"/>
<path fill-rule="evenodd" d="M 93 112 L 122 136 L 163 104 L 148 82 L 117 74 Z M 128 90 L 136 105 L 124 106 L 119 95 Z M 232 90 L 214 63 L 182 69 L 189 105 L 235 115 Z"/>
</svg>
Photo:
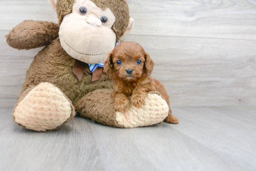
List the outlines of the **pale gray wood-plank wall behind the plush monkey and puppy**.
<svg viewBox="0 0 256 171">
<path fill-rule="evenodd" d="M 128 0 L 136 41 L 171 106 L 256 105 L 256 0 Z M 48 0 L 0 1 L 0 107 L 14 106 L 41 48 L 13 49 L 4 35 L 23 20 L 57 22 Z"/>
</svg>

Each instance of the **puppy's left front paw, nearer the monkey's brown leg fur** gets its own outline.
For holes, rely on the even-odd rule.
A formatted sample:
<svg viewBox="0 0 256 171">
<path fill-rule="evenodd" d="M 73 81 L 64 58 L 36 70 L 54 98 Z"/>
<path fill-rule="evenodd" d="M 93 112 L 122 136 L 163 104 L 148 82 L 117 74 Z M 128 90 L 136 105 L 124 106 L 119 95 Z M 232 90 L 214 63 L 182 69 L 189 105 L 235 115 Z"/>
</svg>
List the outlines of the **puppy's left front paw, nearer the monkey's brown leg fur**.
<svg viewBox="0 0 256 171">
<path fill-rule="evenodd" d="M 129 108 L 130 108 L 130 101 L 129 99 L 126 97 L 126 95 L 124 95 L 123 93 L 115 93 L 114 94 L 114 98 L 115 98 L 115 110 L 117 112 L 128 112 Z"/>
</svg>

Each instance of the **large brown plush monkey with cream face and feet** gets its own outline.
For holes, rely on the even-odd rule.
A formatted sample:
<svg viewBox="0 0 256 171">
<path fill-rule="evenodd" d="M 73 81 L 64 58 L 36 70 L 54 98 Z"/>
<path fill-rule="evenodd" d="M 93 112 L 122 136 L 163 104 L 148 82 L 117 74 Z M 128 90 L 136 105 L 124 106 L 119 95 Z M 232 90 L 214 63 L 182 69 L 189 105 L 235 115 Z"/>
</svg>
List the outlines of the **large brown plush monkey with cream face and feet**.
<svg viewBox="0 0 256 171">
<path fill-rule="evenodd" d="M 126 0 L 49 2 L 59 24 L 25 20 L 6 36 L 8 45 L 17 49 L 45 46 L 34 57 L 13 109 L 18 125 L 52 131 L 76 112 L 122 128 L 154 125 L 168 117 L 159 92 L 149 92 L 141 108 L 131 106 L 125 113 L 114 109 L 113 80 L 102 73 L 102 63 L 134 26 Z"/>
</svg>

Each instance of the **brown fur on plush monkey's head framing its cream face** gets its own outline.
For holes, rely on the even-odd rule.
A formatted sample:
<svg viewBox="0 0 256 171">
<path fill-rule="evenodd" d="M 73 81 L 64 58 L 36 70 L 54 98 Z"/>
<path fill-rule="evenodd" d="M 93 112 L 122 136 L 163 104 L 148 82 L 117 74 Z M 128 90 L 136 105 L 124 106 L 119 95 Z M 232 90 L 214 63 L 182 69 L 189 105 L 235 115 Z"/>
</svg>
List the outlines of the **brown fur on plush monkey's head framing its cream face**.
<svg viewBox="0 0 256 171">
<path fill-rule="evenodd" d="M 115 24 L 112 26 L 112 30 L 116 34 L 116 42 L 118 42 L 121 36 L 125 33 L 129 22 L 129 8 L 126 0 L 91 0 L 94 4 L 100 7 L 102 10 L 107 8 L 115 15 Z M 59 25 L 63 18 L 72 13 L 72 7 L 75 0 L 58 0 L 57 1 L 57 14 L 59 18 Z"/>
</svg>

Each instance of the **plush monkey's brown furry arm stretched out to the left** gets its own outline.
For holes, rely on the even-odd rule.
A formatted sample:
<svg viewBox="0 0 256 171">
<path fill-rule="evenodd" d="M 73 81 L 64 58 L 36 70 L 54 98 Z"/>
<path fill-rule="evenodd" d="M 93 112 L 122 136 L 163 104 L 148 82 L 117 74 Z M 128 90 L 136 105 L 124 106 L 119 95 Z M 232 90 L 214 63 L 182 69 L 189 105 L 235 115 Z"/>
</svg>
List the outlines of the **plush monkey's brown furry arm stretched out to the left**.
<svg viewBox="0 0 256 171">
<path fill-rule="evenodd" d="M 46 46 L 56 39 L 59 25 L 47 21 L 25 20 L 7 35 L 7 43 L 16 49 L 32 49 Z"/>
</svg>

